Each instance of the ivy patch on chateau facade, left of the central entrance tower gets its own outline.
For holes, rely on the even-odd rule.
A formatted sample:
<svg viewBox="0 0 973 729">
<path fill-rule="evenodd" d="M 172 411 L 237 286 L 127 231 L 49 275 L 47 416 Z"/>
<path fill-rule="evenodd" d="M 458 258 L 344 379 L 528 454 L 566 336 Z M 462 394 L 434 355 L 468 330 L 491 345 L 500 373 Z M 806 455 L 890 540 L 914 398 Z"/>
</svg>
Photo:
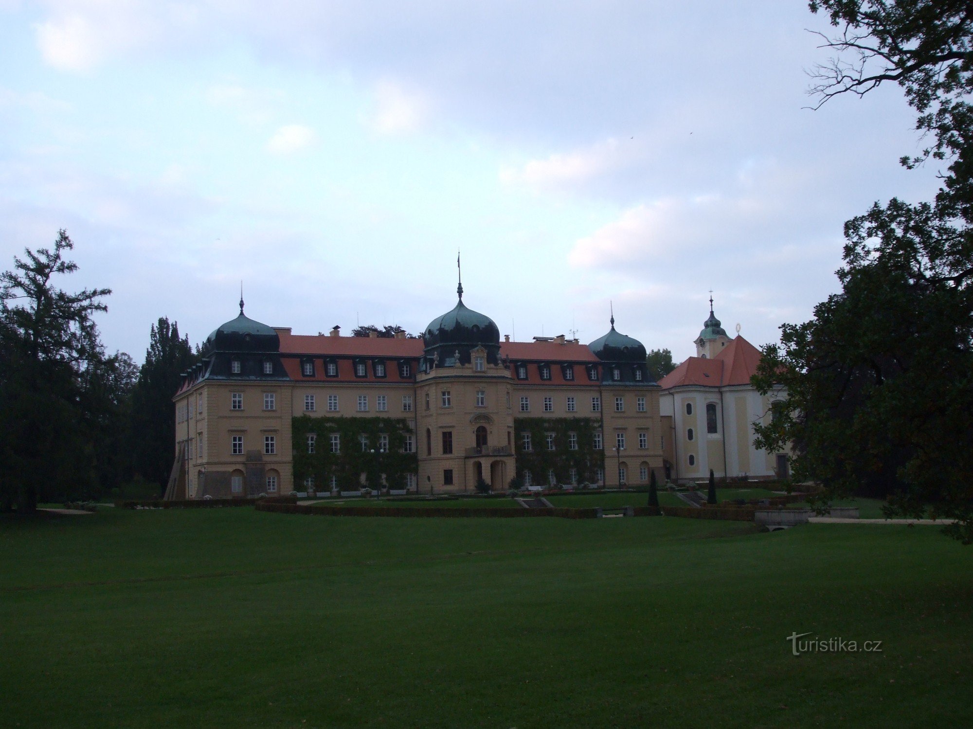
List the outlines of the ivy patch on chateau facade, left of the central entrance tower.
<svg viewBox="0 0 973 729">
<path fill-rule="evenodd" d="M 406 488 L 406 477 L 418 471 L 416 454 L 403 453 L 406 435 L 411 434 L 405 418 L 312 418 L 309 415 L 291 421 L 294 443 L 294 485 L 303 486 L 307 476 L 314 476 L 317 490 L 327 490 L 331 476 L 338 476 L 338 485 L 347 491 L 355 490 L 365 474 L 365 485 L 378 489 L 382 474 L 393 489 Z M 307 436 L 315 435 L 314 452 L 307 452 Z M 331 435 L 338 434 L 341 448 L 331 452 Z M 387 452 L 379 452 L 381 435 L 388 435 Z M 361 436 L 368 438 L 366 452 Z M 413 451 L 415 444 L 413 443 Z"/>
</svg>

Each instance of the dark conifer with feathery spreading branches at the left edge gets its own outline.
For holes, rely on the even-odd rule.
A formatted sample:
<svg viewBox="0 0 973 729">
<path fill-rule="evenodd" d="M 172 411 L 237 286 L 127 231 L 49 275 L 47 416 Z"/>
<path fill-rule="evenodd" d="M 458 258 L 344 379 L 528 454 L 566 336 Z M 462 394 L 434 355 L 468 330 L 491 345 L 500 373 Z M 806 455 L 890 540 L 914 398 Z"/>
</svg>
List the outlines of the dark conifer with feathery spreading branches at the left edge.
<svg viewBox="0 0 973 729">
<path fill-rule="evenodd" d="M 69 294 L 54 286 L 78 269 L 59 230 L 54 248 L 25 250 L 0 274 L 0 508 L 37 508 L 38 499 L 89 496 L 97 488 L 97 435 L 109 417 L 99 393 L 106 362 L 92 315 L 110 289 Z"/>
</svg>

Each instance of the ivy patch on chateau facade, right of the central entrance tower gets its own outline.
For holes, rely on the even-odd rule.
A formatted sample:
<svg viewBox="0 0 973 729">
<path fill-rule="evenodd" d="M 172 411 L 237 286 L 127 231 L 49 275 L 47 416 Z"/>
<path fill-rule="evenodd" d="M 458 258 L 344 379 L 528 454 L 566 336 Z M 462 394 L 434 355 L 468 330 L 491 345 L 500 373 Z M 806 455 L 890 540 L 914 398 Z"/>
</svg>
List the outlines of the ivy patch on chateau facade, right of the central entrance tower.
<svg viewBox="0 0 973 729">
<path fill-rule="evenodd" d="M 595 450 L 599 430 L 596 418 L 514 418 L 518 477 L 528 470 L 534 483 L 543 484 L 553 469 L 558 483 L 570 483 L 568 471 L 577 469 L 579 483 L 595 483 L 597 469 L 604 469 L 604 450 Z M 530 450 L 523 448 L 525 433 L 530 434 Z M 578 436 L 577 450 L 568 448 L 572 433 Z M 548 449 L 548 434 L 554 434 L 554 450 Z"/>
</svg>

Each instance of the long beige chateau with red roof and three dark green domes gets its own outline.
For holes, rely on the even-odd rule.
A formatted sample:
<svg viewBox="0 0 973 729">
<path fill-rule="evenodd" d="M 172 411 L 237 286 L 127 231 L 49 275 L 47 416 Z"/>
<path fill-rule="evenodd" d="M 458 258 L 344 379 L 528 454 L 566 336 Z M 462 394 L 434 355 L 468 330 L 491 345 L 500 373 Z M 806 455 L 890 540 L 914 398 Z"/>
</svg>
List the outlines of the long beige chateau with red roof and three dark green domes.
<svg viewBox="0 0 973 729">
<path fill-rule="evenodd" d="M 563 335 L 501 341 L 463 303 L 461 284 L 456 293 L 421 338 L 294 334 L 249 319 L 241 299 L 173 398 L 166 498 L 663 476 L 671 435 L 661 388 L 614 315 L 588 345 Z"/>
</svg>

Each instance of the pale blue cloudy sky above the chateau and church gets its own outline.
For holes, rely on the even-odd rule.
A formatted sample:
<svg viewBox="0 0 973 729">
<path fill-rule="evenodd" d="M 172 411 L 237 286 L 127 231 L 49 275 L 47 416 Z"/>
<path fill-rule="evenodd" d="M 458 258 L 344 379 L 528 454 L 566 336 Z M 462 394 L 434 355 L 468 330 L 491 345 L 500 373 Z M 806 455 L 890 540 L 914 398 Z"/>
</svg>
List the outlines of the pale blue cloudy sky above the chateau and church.
<svg viewBox="0 0 973 729">
<path fill-rule="evenodd" d="M 0 0 L 0 265 L 59 227 L 141 362 L 168 316 L 518 339 L 676 361 L 837 290 L 842 225 L 935 170 L 895 87 L 805 108 L 803 0 Z"/>
</svg>

